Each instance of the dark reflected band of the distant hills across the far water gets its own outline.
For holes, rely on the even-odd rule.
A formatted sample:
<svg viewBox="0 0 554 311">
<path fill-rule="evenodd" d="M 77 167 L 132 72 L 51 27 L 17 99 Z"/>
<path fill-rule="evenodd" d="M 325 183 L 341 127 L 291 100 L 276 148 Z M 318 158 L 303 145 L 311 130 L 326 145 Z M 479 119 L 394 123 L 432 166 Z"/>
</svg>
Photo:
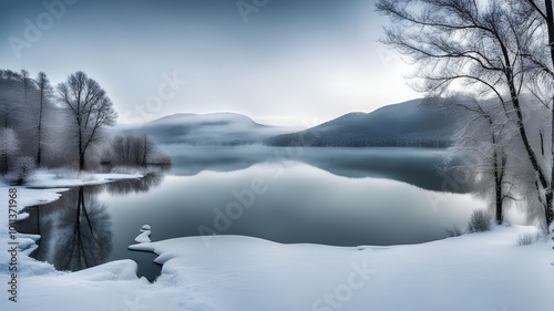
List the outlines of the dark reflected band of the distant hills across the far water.
<svg viewBox="0 0 554 311">
<path fill-rule="evenodd" d="M 444 149 L 429 148 L 280 148 L 266 146 L 187 147 L 168 146 L 174 166 L 172 173 L 194 176 L 204 170 L 234 172 L 260 162 L 301 162 L 334 175 L 349 178 L 386 178 L 403 182 L 432 191 L 468 194 L 469 183 L 452 185 L 452 172 L 443 167 Z M 459 166 L 454 157 L 450 167 Z M 447 168 L 447 169 L 443 169 Z M 460 168 L 461 169 L 461 168 Z M 450 173 L 440 173 L 442 170 Z M 456 172 L 460 174 L 460 172 Z"/>
</svg>

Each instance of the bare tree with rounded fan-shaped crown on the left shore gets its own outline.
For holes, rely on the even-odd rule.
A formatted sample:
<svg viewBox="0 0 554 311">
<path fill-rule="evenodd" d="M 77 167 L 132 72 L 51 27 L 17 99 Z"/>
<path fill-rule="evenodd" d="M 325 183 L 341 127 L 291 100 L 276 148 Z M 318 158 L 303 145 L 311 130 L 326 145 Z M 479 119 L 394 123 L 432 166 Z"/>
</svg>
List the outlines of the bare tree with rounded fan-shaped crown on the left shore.
<svg viewBox="0 0 554 311">
<path fill-rule="evenodd" d="M 79 169 L 82 170 L 88 151 L 102 137 L 102 129 L 115 123 L 117 114 L 105 91 L 84 72 L 71 74 L 57 89 L 60 101 L 74 121 Z"/>
</svg>

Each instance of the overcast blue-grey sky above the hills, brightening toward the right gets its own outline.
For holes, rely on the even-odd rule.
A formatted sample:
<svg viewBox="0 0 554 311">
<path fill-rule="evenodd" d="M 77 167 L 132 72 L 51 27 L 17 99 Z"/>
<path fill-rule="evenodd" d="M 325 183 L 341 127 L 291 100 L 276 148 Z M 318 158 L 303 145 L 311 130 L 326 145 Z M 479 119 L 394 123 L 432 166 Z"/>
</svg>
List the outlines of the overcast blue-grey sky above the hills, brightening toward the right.
<svg viewBox="0 0 554 311">
<path fill-rule="evenodd" d="M 84 71 L 121 123 L 236 112 L 310 126 L 421 96 L 378 42 L 388 20 L 373 3 L 0 0 L 0 68 L 44 71 L 53 84 Z"/>
</svg>

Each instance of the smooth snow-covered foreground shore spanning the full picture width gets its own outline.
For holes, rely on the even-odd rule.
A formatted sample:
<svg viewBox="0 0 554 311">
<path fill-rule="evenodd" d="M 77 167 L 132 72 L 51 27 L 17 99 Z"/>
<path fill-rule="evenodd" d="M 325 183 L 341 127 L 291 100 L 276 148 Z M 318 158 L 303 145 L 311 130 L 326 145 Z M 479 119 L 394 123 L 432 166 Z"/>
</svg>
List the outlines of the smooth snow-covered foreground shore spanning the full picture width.
<svg viewBox="0 0 554 311">
<path fill-rule="evenodd" d="M 44 274 L 20 278 L 20 301 L 2 299 L 0 309 L 551 311 L 552 245 L 515 242 L 534 230 L 497 227 L 423 245 L 358 248 L 239 236 L 171 239 L 133 247 L 160 253 L 163 271 L 153 284 L 133 276 L 130 260 L 61 276 L 27 262 Z"/>
</svg>

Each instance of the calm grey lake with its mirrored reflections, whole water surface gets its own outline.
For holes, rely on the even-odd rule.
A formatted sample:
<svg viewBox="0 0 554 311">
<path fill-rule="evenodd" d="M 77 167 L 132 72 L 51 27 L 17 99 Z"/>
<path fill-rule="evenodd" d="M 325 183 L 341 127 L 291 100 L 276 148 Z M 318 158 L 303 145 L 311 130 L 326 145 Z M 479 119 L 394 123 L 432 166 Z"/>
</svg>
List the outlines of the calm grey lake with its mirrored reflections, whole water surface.
<svg viewBox="0 0 554 311">
<path fill-rule="evenodd" d="M 398 245 L 441 239 L 482 207 L 442 154 L 412 148 L 173 147 L 167 175 L 73 188 L 31 207 L 20 231 L 40 234 L 33 257 L 61 270 L 110 260 L 152 239 L 243 235 L 284 243 Z M 458 180 L 458 182 L 454 182 Z M 151 265 L 152 266 L 152 265 Z M 148 273 L 156 273 L 140 265 Z M 152 278 L 152 276 L 150 276 Z"/>
</svg>

